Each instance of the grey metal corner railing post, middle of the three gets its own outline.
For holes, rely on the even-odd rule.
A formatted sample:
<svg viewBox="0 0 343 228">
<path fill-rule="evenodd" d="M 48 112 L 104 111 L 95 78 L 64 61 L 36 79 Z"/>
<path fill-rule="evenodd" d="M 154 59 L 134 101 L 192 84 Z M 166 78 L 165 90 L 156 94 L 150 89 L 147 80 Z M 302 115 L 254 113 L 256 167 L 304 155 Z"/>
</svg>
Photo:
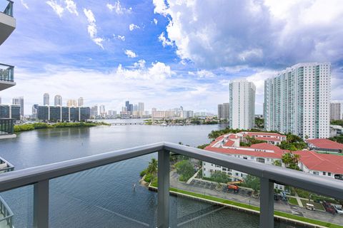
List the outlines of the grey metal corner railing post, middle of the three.
<svg viewBox="0 0 343 228">
<path fill-rule="evenodd" d="M 169 227 L 169 151 L 159 151 L 157 227 Z"/>
</svg>

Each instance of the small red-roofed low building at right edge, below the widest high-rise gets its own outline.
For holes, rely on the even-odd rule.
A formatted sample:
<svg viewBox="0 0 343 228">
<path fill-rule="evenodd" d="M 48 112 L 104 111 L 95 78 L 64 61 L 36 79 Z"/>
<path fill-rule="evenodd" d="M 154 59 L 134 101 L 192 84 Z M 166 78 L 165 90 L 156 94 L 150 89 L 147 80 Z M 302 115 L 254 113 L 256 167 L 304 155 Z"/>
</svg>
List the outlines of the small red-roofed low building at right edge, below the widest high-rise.
<svg viewBox="0 0 343 228">
<path fill-rule="evenodd" d="M 326 138 L 318 138 L 314 140 L 305 140 L 307 145 L 311 150 L 316 150 L 317 152 L 328 152 L 328 153 L 342 153 L 343 144 L 339 142 L 334 142 Z"/>
</svg>

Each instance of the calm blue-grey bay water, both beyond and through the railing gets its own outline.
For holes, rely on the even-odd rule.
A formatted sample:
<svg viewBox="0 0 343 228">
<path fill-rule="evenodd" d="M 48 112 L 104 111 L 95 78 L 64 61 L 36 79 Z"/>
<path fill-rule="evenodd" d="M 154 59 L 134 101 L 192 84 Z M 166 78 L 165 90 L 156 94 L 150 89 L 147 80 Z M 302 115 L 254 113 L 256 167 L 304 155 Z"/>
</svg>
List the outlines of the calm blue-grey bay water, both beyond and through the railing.
<svg viewBox="0 0 343 228">
<path fill-rule="evenodd" d="M 208 133 L 219 128 L 224 126 L 116 125 L 34 130 L 20 133 L 16 139 L 0 140 L 0 156 L 20 170 L 152 142 L 197 146 L 209 142 Z M 51 227 L 156 227 L 156 193 L 138 185 L 139 172 L 151 157 L 156 154 L 51 180 Z M 15 214 L 15 227 L 31 227 L 32 192 L 29 186 L 1 193 Z M 182 197 L 171 199 L 172 227 L 258 227 L 259 217 L 252 214 Z M 213 210 L 216 212 L 210 213 Z"/>
</svg>

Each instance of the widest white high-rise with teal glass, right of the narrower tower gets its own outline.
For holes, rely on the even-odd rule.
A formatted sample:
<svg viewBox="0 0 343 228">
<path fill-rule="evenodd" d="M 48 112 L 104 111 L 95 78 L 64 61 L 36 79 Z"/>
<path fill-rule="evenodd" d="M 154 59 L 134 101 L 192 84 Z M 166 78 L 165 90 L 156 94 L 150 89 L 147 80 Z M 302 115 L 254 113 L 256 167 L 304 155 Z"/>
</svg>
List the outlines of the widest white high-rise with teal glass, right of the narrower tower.
<svg viewBox="0 0 343 228">
<path fill-rule="evenodd" d="M 264 81 L 264 128 L 329 138 L 330 63 L 298 63 Z"/>
</svg>

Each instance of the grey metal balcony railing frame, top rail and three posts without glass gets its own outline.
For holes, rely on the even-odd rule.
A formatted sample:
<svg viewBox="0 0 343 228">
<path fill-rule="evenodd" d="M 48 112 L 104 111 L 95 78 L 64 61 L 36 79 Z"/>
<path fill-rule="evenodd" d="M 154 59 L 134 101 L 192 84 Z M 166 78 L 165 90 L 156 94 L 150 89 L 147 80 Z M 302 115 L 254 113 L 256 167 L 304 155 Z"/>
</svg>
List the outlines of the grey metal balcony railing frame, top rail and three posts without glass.
<svg viewBox="0 0 343 228">
<path fill-rule="evenodd" d="M 27 185 L 34 185 L 34 227 L 49 227 L 49 180 L 72 173 L 108 165 L 121 160 L 128 160 L 152 152 L 158 152 L 158 204 L 157 227 L 169 227 L 169 155 L 174 152 L 197 160 L 230 167 L 261 180 L 259 225 L 263 228 L 274 227 L 274 183 L 292 185 L 319 195 L 343 199 L 343 182 L 319 177 L 304 172 L 288 170 L 273 165 L 220 153 L 200 150 L 169 142 L 143 145 L 100 155 L 58 162 L 50 165 L 31 167 L 25 170 L 7 172 L 0 175 L 0 192 L 13 190 Z"/>
</svg>

